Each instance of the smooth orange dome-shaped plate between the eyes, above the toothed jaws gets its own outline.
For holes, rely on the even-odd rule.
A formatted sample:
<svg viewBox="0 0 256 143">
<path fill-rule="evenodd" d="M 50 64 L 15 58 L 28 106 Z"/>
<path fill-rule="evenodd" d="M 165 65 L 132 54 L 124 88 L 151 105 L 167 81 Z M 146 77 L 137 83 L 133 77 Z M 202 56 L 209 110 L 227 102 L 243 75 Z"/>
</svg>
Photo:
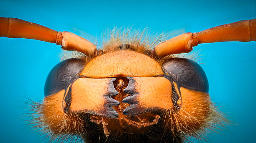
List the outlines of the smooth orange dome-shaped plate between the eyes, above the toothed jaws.
<svg viewBox="0 0 256 143">
<path fill-rule="evenodd" d="M 152 77 L 164 74 L 158 62 L 145 54 L 119 50 L 92 59 L 80 75 L 90 78 L 140 76 Z"/>
</svg>

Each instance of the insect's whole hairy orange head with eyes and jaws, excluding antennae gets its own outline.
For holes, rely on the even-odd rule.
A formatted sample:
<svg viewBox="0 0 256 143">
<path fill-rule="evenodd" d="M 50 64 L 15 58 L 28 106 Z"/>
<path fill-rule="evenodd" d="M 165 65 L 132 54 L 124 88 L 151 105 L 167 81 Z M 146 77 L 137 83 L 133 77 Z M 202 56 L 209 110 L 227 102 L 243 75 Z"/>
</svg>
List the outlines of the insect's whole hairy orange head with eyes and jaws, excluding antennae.
<svg viewBox="0 0 256 143">
<path fill-rule="evenodd" d="M 182 142 L 220 125 L 208 90 L 205 72 L 191 59 L 110 42 L 94 57 L 81 54 L 53 67 L 44 102 L 32 104 L 33 120 L 51 139 Z"/>
</svg>

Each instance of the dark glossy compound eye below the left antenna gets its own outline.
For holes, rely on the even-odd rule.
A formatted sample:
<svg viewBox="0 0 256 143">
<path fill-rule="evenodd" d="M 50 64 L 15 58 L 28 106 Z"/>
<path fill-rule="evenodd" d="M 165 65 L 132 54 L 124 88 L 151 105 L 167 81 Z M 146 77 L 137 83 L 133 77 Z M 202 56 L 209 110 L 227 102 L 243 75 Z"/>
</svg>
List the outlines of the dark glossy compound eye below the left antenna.
<svg viewBox="0 0 256 143">
<path fill-rule="evenodd" d="M 44 96 L 58 93 L 82 71 L 84 62 L 81 59 L 66 59 L 56 64 L 49 72 L 45 85 Z"/>
</svg>

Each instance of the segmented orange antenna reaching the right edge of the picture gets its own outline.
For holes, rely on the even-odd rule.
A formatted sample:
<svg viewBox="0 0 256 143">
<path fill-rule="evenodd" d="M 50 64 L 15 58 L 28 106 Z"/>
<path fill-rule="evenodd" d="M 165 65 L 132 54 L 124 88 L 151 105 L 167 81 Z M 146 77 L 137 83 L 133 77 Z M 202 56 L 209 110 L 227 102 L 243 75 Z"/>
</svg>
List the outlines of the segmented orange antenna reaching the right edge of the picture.
<svg viewBox="0 0 256 143">
<path fill-rule="evenodd" d="M 225 41 L 256 41 L 256 19 L 220 25 L 197 33 L 187 32 L 158 44 L 154 50 L 159 57 L 164 57 L 188 53 L 197 44 Z"/>
</svg>

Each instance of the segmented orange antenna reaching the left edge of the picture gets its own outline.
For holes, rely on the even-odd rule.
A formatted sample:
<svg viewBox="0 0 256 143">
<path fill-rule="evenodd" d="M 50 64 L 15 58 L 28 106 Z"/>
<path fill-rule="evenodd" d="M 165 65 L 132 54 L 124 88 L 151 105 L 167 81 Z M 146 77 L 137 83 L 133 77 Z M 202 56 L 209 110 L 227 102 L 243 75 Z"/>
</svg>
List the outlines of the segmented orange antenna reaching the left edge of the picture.
<svg viewBox="0 0 256 143">
<path fill-rule="evenodd" d="M 87 39 L 71 32 L 58 32 L 48 27 L 17 18 L 0 17 L 0 37 L 36 39 L 61 45 L 62 49 L 90 56 L 97 47 Z"/>
</svg>

